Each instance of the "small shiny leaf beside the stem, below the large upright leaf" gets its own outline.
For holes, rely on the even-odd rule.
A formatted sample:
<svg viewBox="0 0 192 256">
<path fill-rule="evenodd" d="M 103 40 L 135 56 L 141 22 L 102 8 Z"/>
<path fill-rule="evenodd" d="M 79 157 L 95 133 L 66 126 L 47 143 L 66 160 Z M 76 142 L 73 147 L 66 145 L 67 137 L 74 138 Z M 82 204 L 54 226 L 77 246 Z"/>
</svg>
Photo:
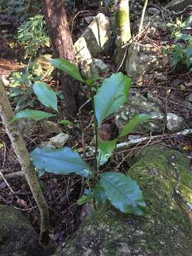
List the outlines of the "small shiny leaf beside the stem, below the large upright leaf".
<svg viewBox="0 0 192 256">
<path fill-rule="evenodd" d="M 112 151 L 115 149 L 117 144 L 117 139 L 114 139 L 112 141 L 105 141 L 99 143 L 99 155 L 98 160 L 99 164 L 105 164 L 110 159 L 110 156 L 112 155 Z"/>
</svg>

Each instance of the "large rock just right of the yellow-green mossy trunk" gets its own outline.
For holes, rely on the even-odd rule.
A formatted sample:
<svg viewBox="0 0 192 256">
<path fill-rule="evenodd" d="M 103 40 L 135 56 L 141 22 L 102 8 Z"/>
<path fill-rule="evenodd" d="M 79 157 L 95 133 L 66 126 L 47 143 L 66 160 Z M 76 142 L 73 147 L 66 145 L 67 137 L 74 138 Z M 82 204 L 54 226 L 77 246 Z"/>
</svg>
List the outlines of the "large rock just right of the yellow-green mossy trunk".
<svg viewBox="0 0 192 256">
<path fill-rule="evenodd" d="M 167 58 L 159 53 L 159 49 L 151 45 L 132 43 L 125 64 L 125 71 L 130 78 L 137 80 L 150 70 L 162 70 Z"/>
</svg>

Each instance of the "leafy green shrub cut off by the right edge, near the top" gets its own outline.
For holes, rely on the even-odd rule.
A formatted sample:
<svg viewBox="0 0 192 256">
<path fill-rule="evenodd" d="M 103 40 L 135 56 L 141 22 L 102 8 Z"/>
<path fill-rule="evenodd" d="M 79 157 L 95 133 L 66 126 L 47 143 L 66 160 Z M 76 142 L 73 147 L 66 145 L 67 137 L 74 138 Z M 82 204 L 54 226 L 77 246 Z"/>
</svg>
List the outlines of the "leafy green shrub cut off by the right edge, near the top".
<svg viewBox="0 0 192 256">
<path fill-rule="evenodd" d="M 178 63 L 183 63 L 189 70 L 192 70 L 192 36 L 191 26 L 192 15 L 186 21 L 176 20 L 176 23 L 169 24 L 171 28 L 171 38 L 174 44 L 166 49 L 167 55 L 171 57 L 171 67 L 176 67 Z"/>
</svg>

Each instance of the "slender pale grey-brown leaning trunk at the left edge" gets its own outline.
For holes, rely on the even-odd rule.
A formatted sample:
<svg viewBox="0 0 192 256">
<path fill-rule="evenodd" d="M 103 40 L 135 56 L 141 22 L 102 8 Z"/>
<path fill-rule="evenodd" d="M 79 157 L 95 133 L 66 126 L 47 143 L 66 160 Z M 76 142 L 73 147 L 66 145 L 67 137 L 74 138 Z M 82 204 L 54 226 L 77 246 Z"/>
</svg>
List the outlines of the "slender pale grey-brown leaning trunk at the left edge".
<svg viewBox="0 0 192 256">
<path fill-rule="evenodd" d="M 12 123 L 11 119 L 14 117 L 14 112 L 11 108 L 8 97 L 6 96 L 6 91 L 4 89 L 3 81 L 0 77 L 0 117 L 2 123 L 6 129 L 6 133 L 11 140 L 11 145 L 17 156 L 19 163 L 21 164 L 21 170 L 28 182 L 28 186 L 31 188 L 33 198 L 35 199 L 38 209 L 41 214 L 41 235 L 40 243 L 41 245 L 47 245 L 49 241 L 49 225 L 50 217 L 48 212 L 48 206 L 46 200 L 41 191 L 41 187 L 38 183 L 38 178 L 36 176 L 36 171 L 33 164 L 31 164 L 31 159 L 26 149 L 26 144 L 23 142 L 21 134 L 18 132 L 18 127 L 16 123 Z"/>
</svg>

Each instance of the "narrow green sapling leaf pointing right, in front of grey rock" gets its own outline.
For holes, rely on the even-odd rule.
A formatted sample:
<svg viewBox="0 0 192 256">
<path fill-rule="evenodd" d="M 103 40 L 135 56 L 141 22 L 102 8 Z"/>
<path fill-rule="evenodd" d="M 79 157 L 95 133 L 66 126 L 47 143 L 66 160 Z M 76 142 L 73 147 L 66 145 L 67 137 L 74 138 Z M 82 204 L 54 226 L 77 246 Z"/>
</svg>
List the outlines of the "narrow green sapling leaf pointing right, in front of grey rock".
<svg viewBox="0 0 192 256">
<path fill-rule="evenodd" d="M 131 133 L 137 125 L 142 124 L 143 122 L 148 122 L 150 119 L 149 114 L 136 114 L 129 122 L 125 125 L 119 137 L 124 137 L 127 134 Z"/>
</svg>

